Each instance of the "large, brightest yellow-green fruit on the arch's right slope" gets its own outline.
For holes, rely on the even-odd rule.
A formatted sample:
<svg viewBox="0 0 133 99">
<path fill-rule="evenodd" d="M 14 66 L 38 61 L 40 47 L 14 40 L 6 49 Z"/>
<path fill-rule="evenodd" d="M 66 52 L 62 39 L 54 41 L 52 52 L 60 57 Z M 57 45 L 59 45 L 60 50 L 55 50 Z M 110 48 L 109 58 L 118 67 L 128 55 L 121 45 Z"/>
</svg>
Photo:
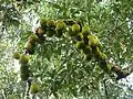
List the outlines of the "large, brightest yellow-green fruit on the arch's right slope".
<svg viewBox="0 0 133 99">
<path fill-rule="evenodd" d="M 95 35 L 89 35 L 88 38 L 89 38 L 90 46 L 98 46 L 100 44 L 99 38 Z"/>
</svg>

